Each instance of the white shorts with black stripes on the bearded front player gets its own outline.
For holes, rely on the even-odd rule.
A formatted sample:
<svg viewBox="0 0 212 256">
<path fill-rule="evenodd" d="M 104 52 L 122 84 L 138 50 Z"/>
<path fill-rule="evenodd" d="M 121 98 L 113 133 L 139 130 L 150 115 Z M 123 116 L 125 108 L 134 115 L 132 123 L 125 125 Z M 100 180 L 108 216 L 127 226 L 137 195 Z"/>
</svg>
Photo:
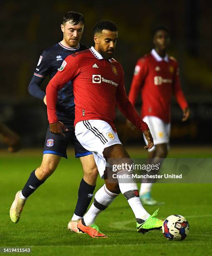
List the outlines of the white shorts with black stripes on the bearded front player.
<svg viewBox="0 0 212 256">
<path fill-rule="evenodd" d="M 75 125 L 75 135 L 80 144 L 92 151 L 100 177 L 104 178 L 105 166 L 109 166 L 103 156 L 105 148 L 122 144 L 112 127 L 102 120 L 85 120 Z"/>
</svg>

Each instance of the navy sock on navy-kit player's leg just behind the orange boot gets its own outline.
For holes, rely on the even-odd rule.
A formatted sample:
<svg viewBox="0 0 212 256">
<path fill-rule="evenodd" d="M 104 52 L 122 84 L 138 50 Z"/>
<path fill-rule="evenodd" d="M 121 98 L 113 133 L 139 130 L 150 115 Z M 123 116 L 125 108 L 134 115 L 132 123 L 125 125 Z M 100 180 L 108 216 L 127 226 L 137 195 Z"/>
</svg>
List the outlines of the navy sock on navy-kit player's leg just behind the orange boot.
<svg viewBox="0 0 212 256">
<path fill-rule="evenodd" d="M 87 207 L 90 205 L 92 200 L 94 189 L 95 186 L 87 184 L 87 182 L 82 178 L 78 189 L 78 200 L 75 207 L 75 214 L 73 215 L 72 220 L 75 220 L 75 215 L 82 218 L 85 214 Z"/>
</svg>

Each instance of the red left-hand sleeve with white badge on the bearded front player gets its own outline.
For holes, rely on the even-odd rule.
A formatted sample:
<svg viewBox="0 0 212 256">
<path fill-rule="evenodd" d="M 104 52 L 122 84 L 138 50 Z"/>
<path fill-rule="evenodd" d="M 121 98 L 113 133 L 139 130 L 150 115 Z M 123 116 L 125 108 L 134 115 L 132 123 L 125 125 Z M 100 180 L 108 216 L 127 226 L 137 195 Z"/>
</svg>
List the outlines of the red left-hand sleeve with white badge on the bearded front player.
<svg viewBox="0 0 212 256">
<path fill-rule="evenodd" d="M 62 62 L 59 71 L 50 80 L 46 87 L 47 115 L 49 123 L 58 122 L 56 114 L 57 92 L 75 76 L 77 76 L 79 64 L 72 56 Z"/>
</svg>

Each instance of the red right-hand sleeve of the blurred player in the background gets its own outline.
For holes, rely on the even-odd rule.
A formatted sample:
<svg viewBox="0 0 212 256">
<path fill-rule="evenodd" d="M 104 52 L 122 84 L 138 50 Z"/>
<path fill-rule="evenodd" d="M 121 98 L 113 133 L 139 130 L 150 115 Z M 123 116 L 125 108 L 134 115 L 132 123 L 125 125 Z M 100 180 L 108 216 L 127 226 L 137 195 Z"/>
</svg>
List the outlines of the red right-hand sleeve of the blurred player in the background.
<svg viewBox="0 0 212 256">
<path fill-rule="evenodd" d="M 188 103 L 185 99 L 185 96 L 182 92 L 181 86 L 180 86 L 180 78 L 179 78 L 179 69 L 177 67 L 176 73 L 175 73 L 175 81 L 173 83 L 173 93 L 176 97 L 176 100 L 178 104 L 180 105 L 180 108 L 185 109 L 188 107 Z"/>
</svg>

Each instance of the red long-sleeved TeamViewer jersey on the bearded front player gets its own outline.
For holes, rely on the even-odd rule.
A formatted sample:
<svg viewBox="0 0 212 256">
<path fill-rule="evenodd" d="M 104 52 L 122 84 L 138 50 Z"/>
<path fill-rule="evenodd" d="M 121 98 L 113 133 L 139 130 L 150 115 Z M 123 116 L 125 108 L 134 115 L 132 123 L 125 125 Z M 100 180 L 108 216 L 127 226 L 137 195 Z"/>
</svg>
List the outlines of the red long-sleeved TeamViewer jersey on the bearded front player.
<svg viewBox="0 0 212 256">
<path fill-rule="evenodd" d="M 46 88 L 49 123 L 57 122 L 57 91 L 72 80 L 75 97 L 75 125 L 82 120 L 104 120 L 115 131 L 115 106 L 141 131 L 142 121 L 127 98 L 122 66 L 106 60 L 93 48 L 67 56 Z"/>
</svg>

